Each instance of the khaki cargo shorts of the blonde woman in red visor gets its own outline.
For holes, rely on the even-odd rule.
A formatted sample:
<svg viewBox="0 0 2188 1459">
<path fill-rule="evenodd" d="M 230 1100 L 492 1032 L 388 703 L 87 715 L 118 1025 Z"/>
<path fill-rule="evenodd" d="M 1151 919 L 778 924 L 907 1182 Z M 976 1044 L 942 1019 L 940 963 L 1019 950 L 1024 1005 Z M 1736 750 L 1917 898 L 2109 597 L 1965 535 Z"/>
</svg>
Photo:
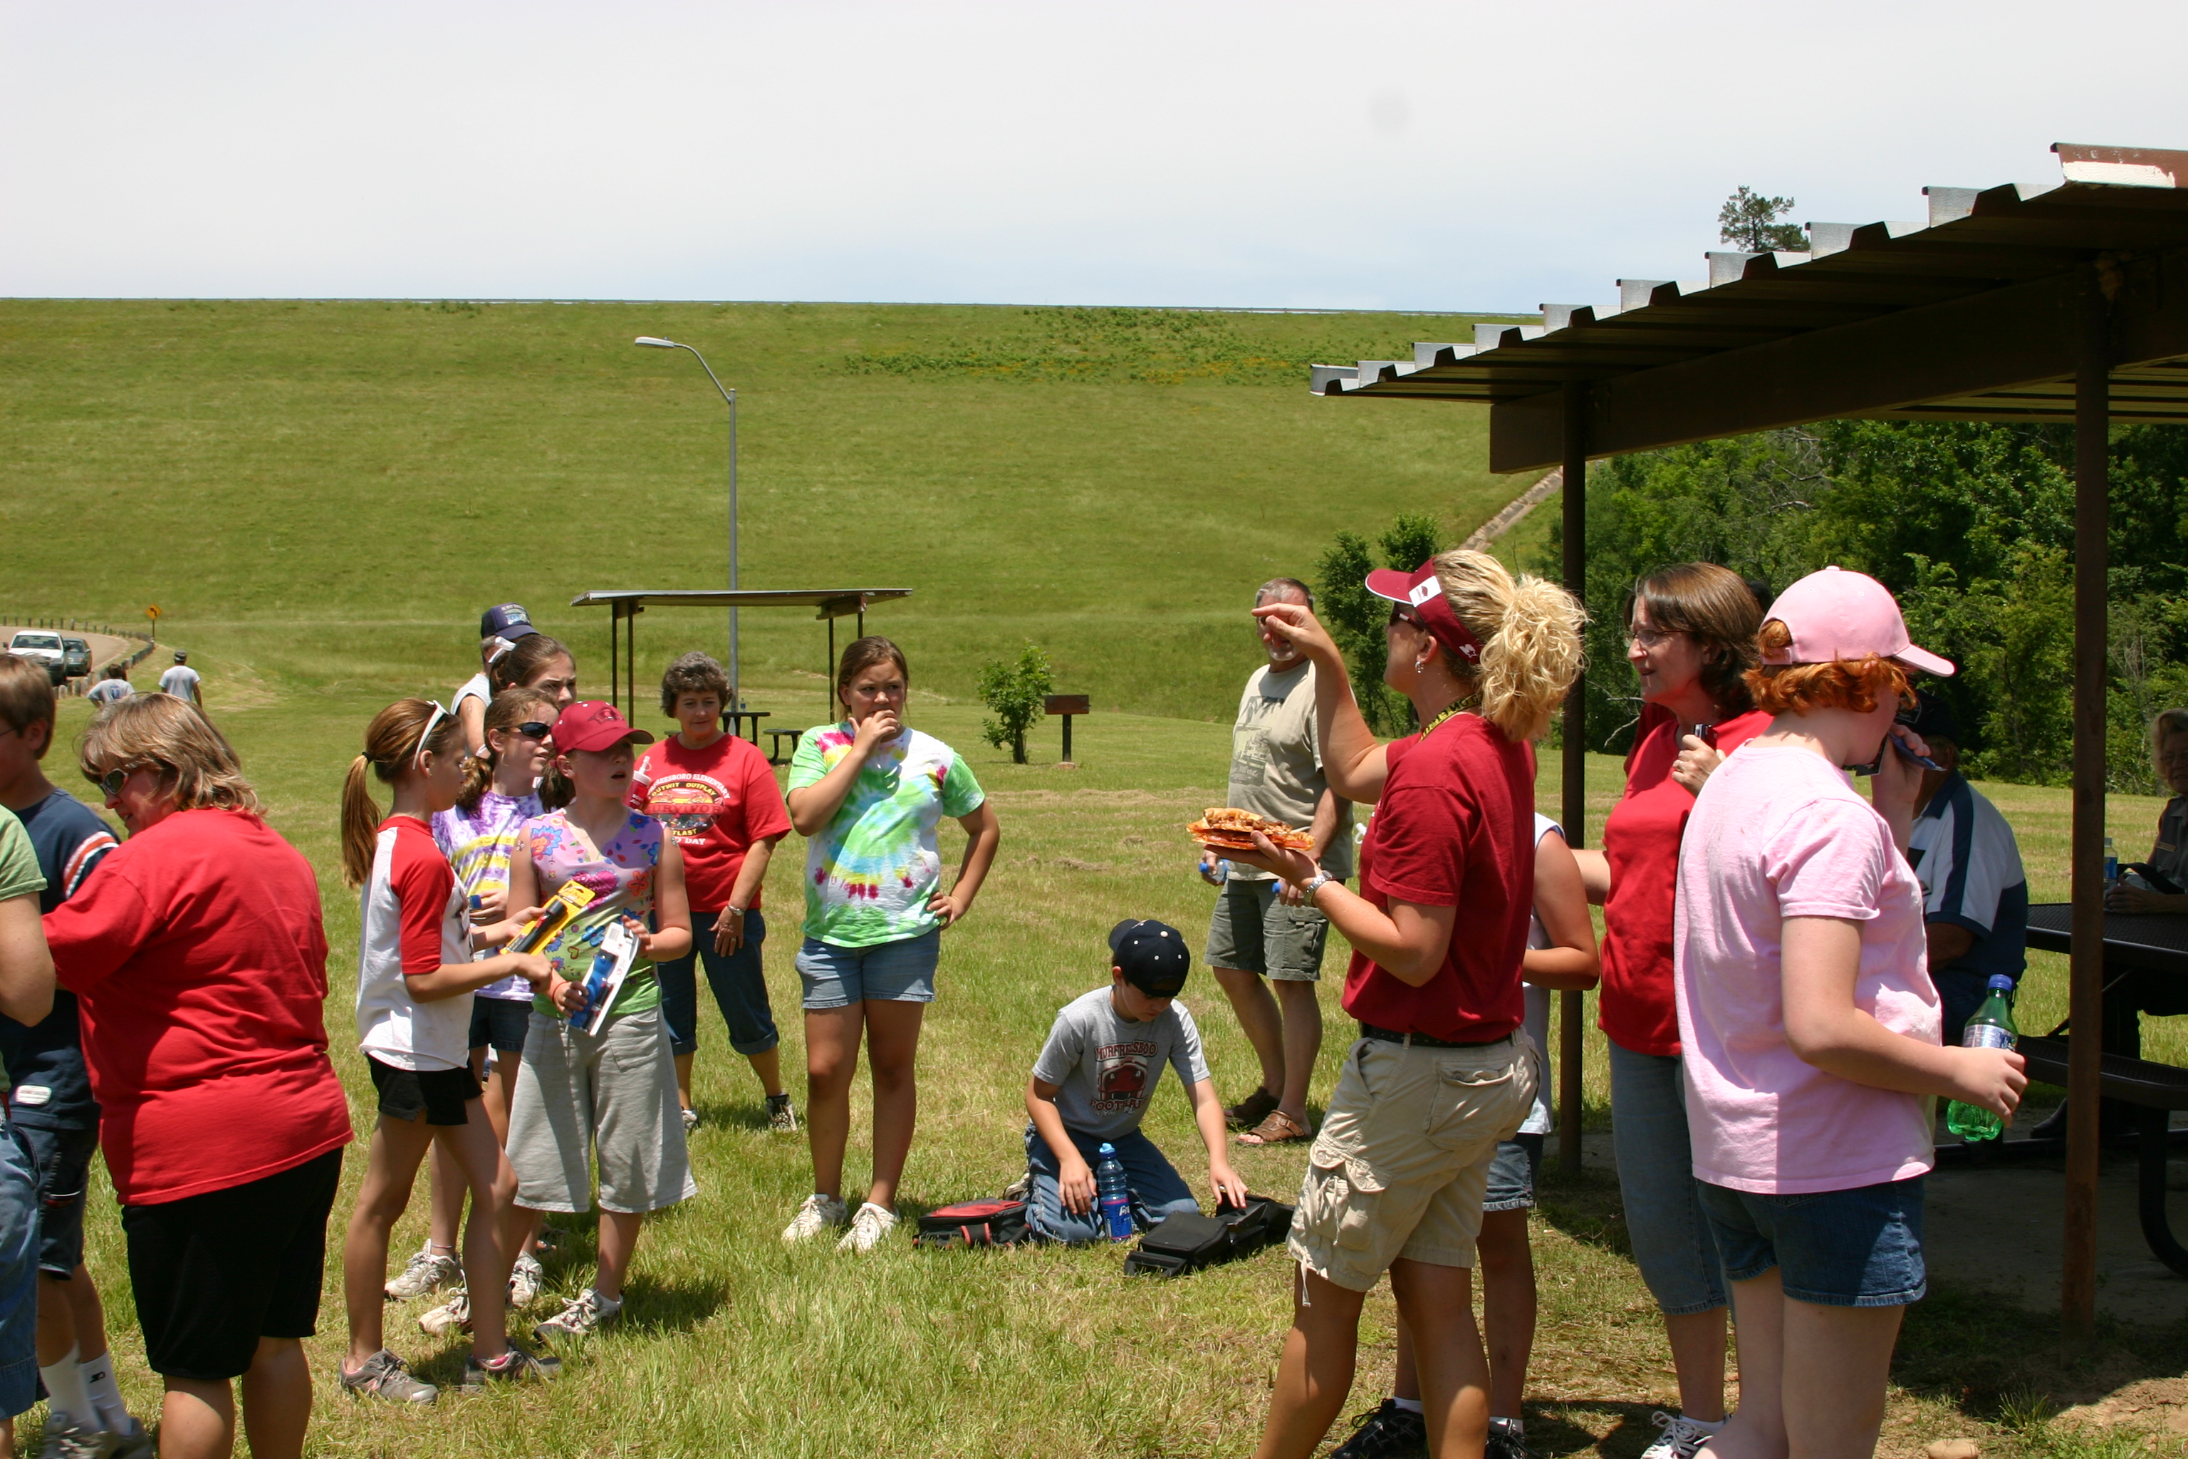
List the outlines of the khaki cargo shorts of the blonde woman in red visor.
<svg viewBox="0 0 2188 1459">
<path fill-rule="evenodd" d="M 1468 1048 L 1361 1039 L 1308 1155 L 1293 1260 L 1357 1293 L 1398 1258 L 1473 1267 L 1497 1142 L 1532 1107 L 1525 1030 Z"/>
</svg>

